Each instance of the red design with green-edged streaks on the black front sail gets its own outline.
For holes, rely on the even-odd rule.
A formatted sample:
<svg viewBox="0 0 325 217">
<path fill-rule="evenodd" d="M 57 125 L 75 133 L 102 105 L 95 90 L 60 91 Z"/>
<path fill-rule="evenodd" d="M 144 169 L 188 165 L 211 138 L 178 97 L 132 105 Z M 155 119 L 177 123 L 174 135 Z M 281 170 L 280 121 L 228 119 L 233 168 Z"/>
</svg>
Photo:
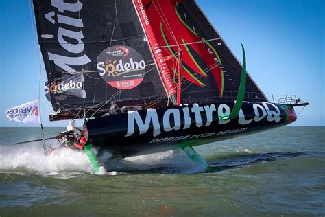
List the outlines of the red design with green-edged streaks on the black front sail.
<svg viewBox="0 0 325 217">
<path fill-rule="evenodd" d="M 139 1 L 136 1 L 139 2 Z M 178 77 L 176 62 L 179 50 L 182 51 L 182 78 L 186 86 L 191 84 L 202 87 L 206 91 L 218 91 L 219 97 L 223 89 L 223 73 L 215 61 L 215 55 L 210 52 L 204 43 L 203 38 L 189 28 L 180 17 L 178 4 L 182 0 L 145 1 L 147 14 L 145 19 L 150 21 L 150 31 L 156 36 L 155 43 L 162 48 L 161 54 L 169 57 L 166 60 L 167 69 Z M 176 73 L 175 73 L 176 72 Z M 176 82 L 178 78 L 174 78 Z M 186 88 L 186 86 L 184 88 Z"/>
</svg>

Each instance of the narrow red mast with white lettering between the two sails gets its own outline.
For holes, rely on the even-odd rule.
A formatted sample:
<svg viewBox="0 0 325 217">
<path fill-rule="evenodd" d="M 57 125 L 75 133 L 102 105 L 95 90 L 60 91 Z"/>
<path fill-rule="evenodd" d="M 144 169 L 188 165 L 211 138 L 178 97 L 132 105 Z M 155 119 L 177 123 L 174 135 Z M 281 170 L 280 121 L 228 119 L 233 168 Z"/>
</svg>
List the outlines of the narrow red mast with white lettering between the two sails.
<svg viewBox="0 0 325 217">
<path fill-rule="evenodd" d="M 136 10 L 139 13 L 141 23 L 143 24 L 145 32 L 147 33 L 149 45 L 152 47 L 152 52 L 154 53 L 154 57 L 160 69 L 160 75 L 167 89 L 167 93 L 169 96 L 171 96 L 174 93 L 176 93 L 176 87 L 175 84 L 173 84 L 171 73 L 169 73 L 169 68 L 164 60 L 165 56 L 163 55 L 162 49 L 160 48 L 160 45 L 156 40 L 155 33 L 152 30 L 149 17 L 147 16 L 147 10 L 145 8 L 145 4 L 143 3 L 142 0 L 134 0 L 134 4 L 136 5 Z"/>
</svg>

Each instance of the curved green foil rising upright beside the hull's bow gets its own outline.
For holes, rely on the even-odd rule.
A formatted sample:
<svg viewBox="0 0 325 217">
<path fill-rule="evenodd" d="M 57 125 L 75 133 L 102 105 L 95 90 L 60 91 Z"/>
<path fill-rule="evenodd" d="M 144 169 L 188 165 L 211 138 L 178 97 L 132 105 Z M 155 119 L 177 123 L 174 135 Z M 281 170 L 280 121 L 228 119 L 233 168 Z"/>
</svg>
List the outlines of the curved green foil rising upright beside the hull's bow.
<svg viewBox="0 0 325 217">
<path fill-rule="evenodd" d="M 239 91 L 237 95 L 236 103 L 234 104 L 234 108 L 232 109 L 229 119 L 234 119 L 237 117 L 241 105 L 243 104 L 243 98 L 245 96 L 245 89 L 246 89 L 246 57 L 245 57 L 245 49 L 243 45 L 241 45 L 241 49 L 243 50 L 243 69 L 241 69 L 241 84 L 239 86 Z"/>
</svg>

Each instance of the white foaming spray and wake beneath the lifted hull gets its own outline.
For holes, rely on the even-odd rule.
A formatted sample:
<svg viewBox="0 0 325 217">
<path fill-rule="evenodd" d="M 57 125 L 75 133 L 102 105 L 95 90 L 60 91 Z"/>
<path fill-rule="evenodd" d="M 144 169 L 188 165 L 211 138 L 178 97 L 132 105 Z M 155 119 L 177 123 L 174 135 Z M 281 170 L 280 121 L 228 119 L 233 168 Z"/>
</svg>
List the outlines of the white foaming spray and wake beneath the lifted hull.
<svg viewBox="0 0 325 217">
<path fill-rule="evenodd" d="M 51 142 L 47 142 L 47 144 L 52 147 L 58 146 L 56 139 L 53 139 Z M 112 160 L 111 157 L 112 154 L 108 151 L 97 156 L 101 165 L 97 175 L 139 172 L 192 174 L 204 171 L 203 168 L 200 168 L 189 157 L 179 151 L 128 157 L 123 160 Z M 74 177 L 75 175 L 95 174 L 85 152 L 62 148 L 58 152 L 45 156 L 41 141 L 16 146 L 1 145 L 0 172 L 62 176 L 67 178 Z"/>
</svg>

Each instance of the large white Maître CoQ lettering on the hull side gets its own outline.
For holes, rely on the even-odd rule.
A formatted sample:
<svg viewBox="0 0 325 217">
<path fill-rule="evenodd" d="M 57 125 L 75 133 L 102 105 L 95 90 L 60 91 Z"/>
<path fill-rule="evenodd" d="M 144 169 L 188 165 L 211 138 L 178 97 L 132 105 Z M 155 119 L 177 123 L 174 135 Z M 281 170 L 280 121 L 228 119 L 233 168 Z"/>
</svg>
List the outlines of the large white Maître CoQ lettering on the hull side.
<svg viewBox="0 0 325 217">
<path fill-rule="evenodd" d="M 281 111 L 275 104 L 269 102 L 262 102 L 252 104 L 251 106 L 252 114 L 250 117 L 245 117 L 243 110 L 240 109 L 237 121 L 239 125 L 246 126 L 251 122 L 260 122 L 262 119 L 267 119 L 268 122 L 280 122 Z M 181 109 L 167 109 L 163 114 L 163 117 L 158 117 L 156 109 L 147 109 L 147 115 L 143 120 L 138 111 L 128 111 L 128 130 L 125 137 L 130 137 L 134 135 L 134 132 L 139 132 L 139 134 L 147 133 L 149 128 L 152 129 L 153 136 L 156 137 L 164 132 L 170 132 L 172 130 L 185 130 L 190 128 L 191 125 L 195 125 L 197 128 L 203 126 L 210 126 L 211 124 L 228 124 L 230 119 L 224 119 L 223 117 L 228 117 L 231 113 L 230 106 L 227 104 L 208 104 L 206 106 L 199 106 L 198 104 L 193 104 L 193 106 L 184 106 Z M 182 117 L 182 121 L 181 121 Z M 204 117 L 204 118 L 202 118 Z M 163 120 L 163 129 L 159 123 L 159 119 Z M 137 126 L 138 130 L 134 130 Z M 245 128 L 245 130 L 247 130 Z M 226 135 L 229 133 L 240 133 L 242 131 L 224 131 L 215 133 L 215 135 Z M 204 135 L 202 135 L 203 137 Z M 201 137 L 201 136 L 200 136 Z M 192 139 L 195 137 L 192 137 Z M 199 138 L 199 136 L 197 136 Z M 154 141 L 154 140 L 153 140 Z"/>
</svg>

